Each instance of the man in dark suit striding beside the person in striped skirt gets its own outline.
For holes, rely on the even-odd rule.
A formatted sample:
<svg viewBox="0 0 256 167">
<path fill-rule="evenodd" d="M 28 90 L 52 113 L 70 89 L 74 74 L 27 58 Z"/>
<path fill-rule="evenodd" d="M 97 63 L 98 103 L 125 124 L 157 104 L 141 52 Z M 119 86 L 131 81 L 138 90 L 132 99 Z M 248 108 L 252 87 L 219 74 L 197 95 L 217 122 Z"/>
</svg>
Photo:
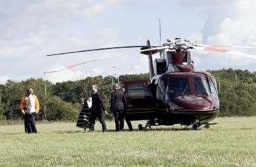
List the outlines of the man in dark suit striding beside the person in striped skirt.
<svg viewBox="0 0 256 167">
<path fill-rule="evenodd" d="M 106 124 L 105 124 L 105 106 L 102 101 L 101 95 L 98 93 L 98 85 L 92 85 L 92 120 L 89 132 L 93 132 L 95 128 L 95 119 L 98 118 L 100 124 L 102 125 L 102 132 L 106 132 Z"/>
</svg>

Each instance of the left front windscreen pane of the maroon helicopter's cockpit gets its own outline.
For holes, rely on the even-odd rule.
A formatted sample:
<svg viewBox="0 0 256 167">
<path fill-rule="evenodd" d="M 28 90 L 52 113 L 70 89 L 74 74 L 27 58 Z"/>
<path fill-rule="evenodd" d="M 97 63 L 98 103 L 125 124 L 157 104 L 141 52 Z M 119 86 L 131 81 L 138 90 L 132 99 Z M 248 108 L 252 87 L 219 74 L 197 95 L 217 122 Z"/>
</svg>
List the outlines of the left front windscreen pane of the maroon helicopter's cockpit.
<svg viewBox="0 0 256 167">
<path fill-rule="evenodd" d="M 167 86 L 167 98 L 173 100 L 177 96 L 190 95 L 191 90 L 188 78 L 171 78 Z"/>
</svg>

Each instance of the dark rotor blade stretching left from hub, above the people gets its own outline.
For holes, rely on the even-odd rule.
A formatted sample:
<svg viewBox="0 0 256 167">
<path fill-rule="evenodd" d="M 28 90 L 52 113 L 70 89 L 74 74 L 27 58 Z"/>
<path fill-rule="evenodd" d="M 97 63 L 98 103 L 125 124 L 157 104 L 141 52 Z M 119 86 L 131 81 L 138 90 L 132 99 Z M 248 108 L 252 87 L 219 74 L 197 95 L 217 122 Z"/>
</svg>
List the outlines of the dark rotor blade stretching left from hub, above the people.
<svg viewBox="0 0 256 167">
<path fill-rule="evenodd" d="M 71 53 L 79 53 L 79 52 L 91 52 L 95 50 L 109 50 L 109 49 L 116 49 L 116 48 L 141 48 L 141 47 L 158 47 L 158 46 L 147 46 L 147 45 L 135 45 L 135 46 L 117 46 L 117 47 L 109 47 L 109 48 L 94 48 L 88 50 L 79 50 L 74 52 L 62 52 L 57 54 L 47 54 L 46 56 L 56 56 L 60 54 L 71 54 Z"/>
</svg>

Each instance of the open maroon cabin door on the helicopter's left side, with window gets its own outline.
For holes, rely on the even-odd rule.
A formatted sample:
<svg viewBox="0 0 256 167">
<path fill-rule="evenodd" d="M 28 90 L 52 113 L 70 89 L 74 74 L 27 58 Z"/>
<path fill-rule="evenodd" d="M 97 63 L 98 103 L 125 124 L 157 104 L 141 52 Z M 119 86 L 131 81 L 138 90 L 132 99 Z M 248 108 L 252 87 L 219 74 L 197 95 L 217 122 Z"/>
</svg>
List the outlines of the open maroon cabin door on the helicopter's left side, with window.
<svg viewBox="0 0 256 167">
<path fill-rule="evenodd" d="M 127 117 L 132 120 L 149 119 L 156 111 L 156 101 L 147 80 L 125 81 Z"/>
</svg>

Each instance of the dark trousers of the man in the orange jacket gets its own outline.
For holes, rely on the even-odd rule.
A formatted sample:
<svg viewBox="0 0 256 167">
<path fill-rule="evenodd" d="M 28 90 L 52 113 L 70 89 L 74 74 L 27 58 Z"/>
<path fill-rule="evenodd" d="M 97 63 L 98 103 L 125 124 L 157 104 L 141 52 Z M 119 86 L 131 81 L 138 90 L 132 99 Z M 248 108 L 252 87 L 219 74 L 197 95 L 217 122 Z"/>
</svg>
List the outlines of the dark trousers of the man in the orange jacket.
<svg viewBox="0 0 256 167">
<path fill-rule="evenodd" d="M 25 113 L 24 125 L 25 125 L 26 133 L 28 134 L 37 133 L 37 128 L 35 127 L 35 113 L 32 113 L 32 114 Z"/>
</svg>

